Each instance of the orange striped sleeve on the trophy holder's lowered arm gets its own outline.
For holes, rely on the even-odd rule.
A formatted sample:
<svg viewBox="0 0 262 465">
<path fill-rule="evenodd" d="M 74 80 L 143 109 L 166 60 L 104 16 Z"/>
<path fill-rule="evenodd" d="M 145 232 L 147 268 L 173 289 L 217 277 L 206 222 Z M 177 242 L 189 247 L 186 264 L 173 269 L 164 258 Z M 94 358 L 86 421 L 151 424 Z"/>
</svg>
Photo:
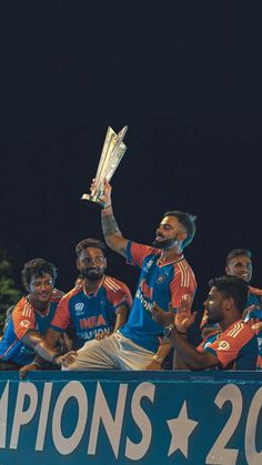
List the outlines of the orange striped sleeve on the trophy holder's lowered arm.
<svg viewBox="0 0 262 465">
<path fill-rule="evenodd" d="M 173 310 L 177 311 L 184 295 L 190 295 L 193 301 L 196 283 L 192 270 L 187 266 L 180 266 L 170 283 L 171 304 Z"/>
</svg>

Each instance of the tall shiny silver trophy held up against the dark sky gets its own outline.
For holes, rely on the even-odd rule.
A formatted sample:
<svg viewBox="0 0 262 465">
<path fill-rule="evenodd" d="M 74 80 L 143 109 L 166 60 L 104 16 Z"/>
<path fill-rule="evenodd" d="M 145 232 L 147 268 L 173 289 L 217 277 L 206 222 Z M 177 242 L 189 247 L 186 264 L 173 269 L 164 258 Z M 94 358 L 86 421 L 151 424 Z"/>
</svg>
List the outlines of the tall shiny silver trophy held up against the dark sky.
<svg viewBox="0 0 262 465">
<path fill-rule="evenodd" d="M 114 171 L 122 160 L 127 150 L 127 145 L 123 143 L 123 138 L 127 131 L 127 125 L 118 134 L 112 130 L 112 128 L 108 128 L 95 174 L 95 188 L 91 191 L 91 194 L 83 194 L 83 200 L 94 202 L 102 208 L 105 206 L 104 202 L 101 200 L 101 196 L 103 196 L 104 179 L 108 181 L 111 180 Z"/>
</svg>

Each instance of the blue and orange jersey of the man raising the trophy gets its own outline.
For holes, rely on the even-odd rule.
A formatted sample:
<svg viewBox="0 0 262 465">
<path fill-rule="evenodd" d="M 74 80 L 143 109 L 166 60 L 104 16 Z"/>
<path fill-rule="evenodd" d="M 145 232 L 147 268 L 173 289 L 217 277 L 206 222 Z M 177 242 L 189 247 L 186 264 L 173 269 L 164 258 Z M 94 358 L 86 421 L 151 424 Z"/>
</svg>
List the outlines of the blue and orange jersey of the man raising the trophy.
<svg viewBox="0 0 262 465">
<path fill-rule="evenodd" d="M 157 352 L 163 337 L 162 327 L 152 319 L 152 305 L 168 311 L 171 303 L 175 312 L 184 294 L 192 297 L 195 279 L 183 255 L 161 264 L 161 251 L 148 245 L 128 242 L 127 262 L 141 269 L 130 316 L 121 333 L 135 344 Z"/>
</svg>

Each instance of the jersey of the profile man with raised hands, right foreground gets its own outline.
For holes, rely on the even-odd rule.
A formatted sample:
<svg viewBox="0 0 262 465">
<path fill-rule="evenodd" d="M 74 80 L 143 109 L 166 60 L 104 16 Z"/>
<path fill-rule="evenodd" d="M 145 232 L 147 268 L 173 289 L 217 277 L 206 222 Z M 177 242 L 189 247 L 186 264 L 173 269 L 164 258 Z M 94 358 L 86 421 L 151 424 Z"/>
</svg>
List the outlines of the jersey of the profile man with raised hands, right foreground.
<svg viewBox="0 0 262 465">
<path fill-rule="evenodd" d="M 236 321 L 223 332 L 209 334 L 196 350 L 215 355 L 219 370 L 255 370 L 258 342 L 254 332 L 243 320 Z"/>
</svg>

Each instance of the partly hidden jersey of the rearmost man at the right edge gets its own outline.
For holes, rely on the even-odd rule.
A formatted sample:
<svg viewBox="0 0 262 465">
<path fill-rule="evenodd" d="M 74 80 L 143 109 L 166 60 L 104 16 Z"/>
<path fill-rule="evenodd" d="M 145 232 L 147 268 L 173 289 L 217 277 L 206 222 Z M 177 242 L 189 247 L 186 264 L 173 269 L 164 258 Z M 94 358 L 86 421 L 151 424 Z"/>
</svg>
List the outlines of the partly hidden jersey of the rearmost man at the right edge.
<svg viewBox="0 0 262 465">
<path fill-rule="evenodd" d="M 256 370 L 262 370 L 262 290 L 249 286 L 249 299 L 246 302 L 246 309 L 254 305 L 254 309 L 249 311 L 244 317 L 244 322 L 248 323 L 254 331 L 258 337 L 259 355 L 256 362 Z M 208 322 L 208 311 L 204 309 L 203 317 L 200 325 L 201 331 L 212 328 L 219 328 L 219 324 Z"/>
</svg>

